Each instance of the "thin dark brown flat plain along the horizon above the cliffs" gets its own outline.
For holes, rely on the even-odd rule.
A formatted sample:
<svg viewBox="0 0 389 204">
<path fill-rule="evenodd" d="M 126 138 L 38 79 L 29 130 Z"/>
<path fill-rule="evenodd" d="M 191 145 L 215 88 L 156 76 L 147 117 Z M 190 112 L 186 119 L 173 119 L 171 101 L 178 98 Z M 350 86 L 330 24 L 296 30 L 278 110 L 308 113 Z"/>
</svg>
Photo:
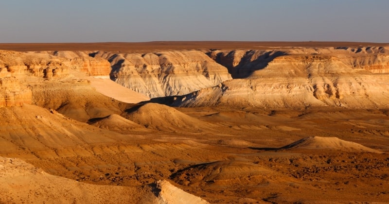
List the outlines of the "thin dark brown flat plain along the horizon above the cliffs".
<svg viewBox="0 0 389 204">
<path fill-rule="evenodd" d="M 249 41 L 152 41 L 104 43 L 0 43 L 0 50 L 13 51 L 158 51 L 158 50 L 237 50 L 274 49 L 280 47 L 366 47 L 389 43 L 370 42 L 249 42 Z"/>
</svg>

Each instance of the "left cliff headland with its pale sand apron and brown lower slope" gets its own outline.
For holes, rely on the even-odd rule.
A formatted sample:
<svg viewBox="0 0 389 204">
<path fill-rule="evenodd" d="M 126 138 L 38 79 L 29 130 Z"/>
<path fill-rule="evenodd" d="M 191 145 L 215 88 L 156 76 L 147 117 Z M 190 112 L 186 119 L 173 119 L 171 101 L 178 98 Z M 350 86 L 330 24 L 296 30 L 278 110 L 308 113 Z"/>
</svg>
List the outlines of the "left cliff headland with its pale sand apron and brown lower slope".
<svg viewBox="0 0 389 204">
<path fill-rule="evenodd" d="M 148 99 L 109 81 L 109 62 L 87 52 L 0 53 L 0 107 L 35 104 L 87 121 Z"/>
</svg>

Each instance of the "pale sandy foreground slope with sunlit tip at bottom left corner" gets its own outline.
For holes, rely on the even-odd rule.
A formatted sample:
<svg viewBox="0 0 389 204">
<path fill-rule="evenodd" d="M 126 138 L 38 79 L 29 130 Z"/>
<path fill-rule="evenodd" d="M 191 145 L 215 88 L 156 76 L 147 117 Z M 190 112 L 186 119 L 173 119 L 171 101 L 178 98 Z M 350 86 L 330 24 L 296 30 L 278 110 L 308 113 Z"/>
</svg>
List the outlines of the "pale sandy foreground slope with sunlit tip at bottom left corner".
<svg viewBox="0 0 389 204">
<path fill-rule="evenodd" d="M 54 176 L 18 158 L 0 156 L 1 203 L 208 204 L 163 180 L 151 190 L 93 185 Z"/>
</svg>

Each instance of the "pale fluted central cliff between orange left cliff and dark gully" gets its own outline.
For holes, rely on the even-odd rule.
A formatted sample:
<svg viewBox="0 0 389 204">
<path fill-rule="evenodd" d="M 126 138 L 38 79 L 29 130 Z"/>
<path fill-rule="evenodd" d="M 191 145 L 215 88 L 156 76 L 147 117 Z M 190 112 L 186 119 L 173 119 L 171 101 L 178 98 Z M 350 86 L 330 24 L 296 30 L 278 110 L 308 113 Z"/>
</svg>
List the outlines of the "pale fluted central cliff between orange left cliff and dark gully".
<svg viewBox="0 0 389 204">
<path fill-rule="evenodd" d="M 184 95 L 231 79 L 201 51 L 98 53 L 110 61 L 111 79 L 150 98 Z"/>
</svg>

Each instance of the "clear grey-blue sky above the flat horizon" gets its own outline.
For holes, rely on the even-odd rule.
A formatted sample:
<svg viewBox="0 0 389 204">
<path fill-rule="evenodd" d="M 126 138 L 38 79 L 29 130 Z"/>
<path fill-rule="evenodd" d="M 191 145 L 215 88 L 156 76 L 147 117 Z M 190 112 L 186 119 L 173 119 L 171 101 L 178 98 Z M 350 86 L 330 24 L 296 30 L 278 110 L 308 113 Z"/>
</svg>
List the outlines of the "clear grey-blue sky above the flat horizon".
<svg viewBox="0 0 389 204">
<path fill-rule="evenodd" d="M 0 43 L 389 43 L 389 0 L 0 0 Z"/>
</svg>

